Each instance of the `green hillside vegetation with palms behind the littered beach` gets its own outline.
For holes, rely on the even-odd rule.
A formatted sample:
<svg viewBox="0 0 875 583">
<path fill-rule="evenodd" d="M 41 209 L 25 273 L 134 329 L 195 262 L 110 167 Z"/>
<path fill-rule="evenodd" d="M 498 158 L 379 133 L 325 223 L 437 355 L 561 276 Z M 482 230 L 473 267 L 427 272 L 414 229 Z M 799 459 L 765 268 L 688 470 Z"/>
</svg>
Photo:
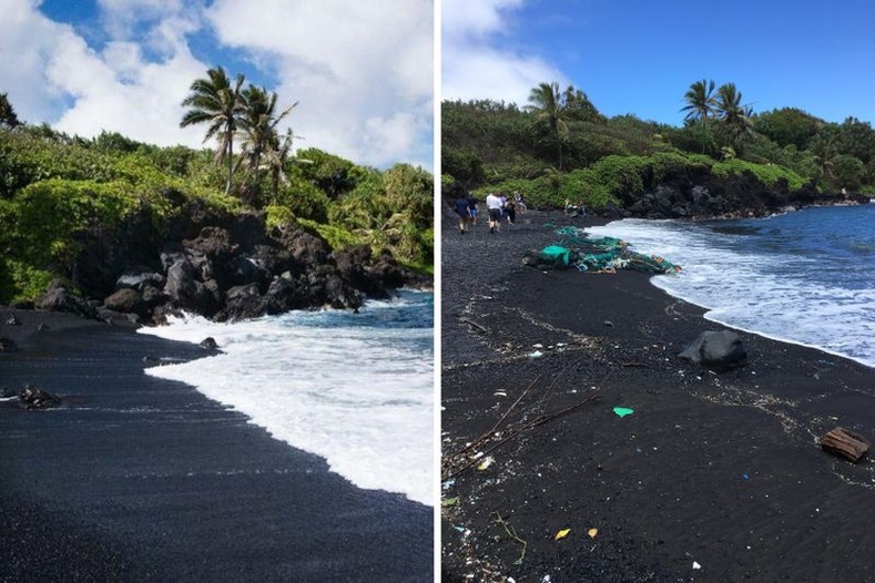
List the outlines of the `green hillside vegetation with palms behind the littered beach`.
<svg viewBox="0 0 875 583">
<path fill-rule="evenodd" d="M 692 83 L 681 126 L 634 115 L 606 117 L 573 86 L 540 83 L 529 103 L 445 101 L 441 185 L 482 197 L 519 192 L 533 207 L 567 198 L 627 206 L 665 176 L 753 175 L 798 191 L 875 192 L 875 131 L 784 108 L 754 113 L 734 83 Z"/>
</svg>

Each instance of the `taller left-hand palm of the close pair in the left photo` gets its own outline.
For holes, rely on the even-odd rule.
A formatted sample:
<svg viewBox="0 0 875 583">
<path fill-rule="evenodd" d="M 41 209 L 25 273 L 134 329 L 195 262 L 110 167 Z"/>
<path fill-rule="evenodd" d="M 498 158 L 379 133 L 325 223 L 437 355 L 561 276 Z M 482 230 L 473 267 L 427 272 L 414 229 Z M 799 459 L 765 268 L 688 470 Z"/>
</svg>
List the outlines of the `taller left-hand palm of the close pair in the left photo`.
<svg viewBox="0 0 875 583">
<path fill-rule="evenodd" d="M 182 102 L 183 106 L 191 109 L 183 115 L 180 126 L 207 124 L 204 142 L 215 137 L 216 162 L 227 162 L 225 194 L 231 192 L 231 177 L 234 174 L 234 132 L 243 112 L 240 91 L 243 81 L 243 75 L 238 74 L 232 85 L 225 70 L 214 67 L 206 72 L 205 79 L 196 79 L 192 83 L 191 93 Z"/>
</svg>

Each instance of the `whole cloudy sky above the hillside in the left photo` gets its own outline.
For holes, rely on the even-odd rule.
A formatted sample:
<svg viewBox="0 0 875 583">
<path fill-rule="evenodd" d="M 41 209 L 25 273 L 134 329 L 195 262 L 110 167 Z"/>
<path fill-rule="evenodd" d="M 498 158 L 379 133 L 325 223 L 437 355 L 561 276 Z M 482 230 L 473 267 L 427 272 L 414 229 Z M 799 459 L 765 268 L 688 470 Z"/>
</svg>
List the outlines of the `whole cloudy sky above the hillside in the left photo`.
<svg viewBox="0 0 875 583">
<path fill-rule="evenodd" d="M 218 64 L 298 102 L 281 125 L 298 147 L 434 167 L 433 0 L 0 0 L 0 92 L 27 123 L 197 147 L 181 102 Z"/>
</svg>

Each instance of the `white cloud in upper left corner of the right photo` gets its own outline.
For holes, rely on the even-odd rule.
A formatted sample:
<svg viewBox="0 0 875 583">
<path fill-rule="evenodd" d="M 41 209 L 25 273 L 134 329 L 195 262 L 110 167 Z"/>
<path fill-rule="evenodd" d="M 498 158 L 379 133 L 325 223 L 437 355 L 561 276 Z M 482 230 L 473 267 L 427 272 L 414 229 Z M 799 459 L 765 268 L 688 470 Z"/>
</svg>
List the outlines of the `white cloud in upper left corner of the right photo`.
<svg viewBox="0 0 875 583">
<path fill-rule="evenodd" d="M 491 99 L 525 105 L 531 88 L 567 82 L 553 65 L 513 49 L 509 16 L 523 0 L 445 0 L 441 99 Z"/>
</svg>

